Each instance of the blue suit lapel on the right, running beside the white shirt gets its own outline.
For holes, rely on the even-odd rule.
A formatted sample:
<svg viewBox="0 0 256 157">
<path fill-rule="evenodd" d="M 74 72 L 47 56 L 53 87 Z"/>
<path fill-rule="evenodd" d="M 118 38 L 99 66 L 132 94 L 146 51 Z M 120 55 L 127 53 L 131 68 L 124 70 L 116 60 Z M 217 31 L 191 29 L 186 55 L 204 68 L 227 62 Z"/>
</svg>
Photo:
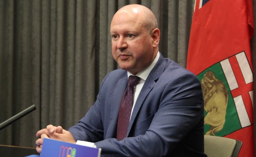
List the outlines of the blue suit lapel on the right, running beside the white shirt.
<svg viewBox="0 0 256 157">
<path fill-rule="evenodd" d="M 129 133 L 131 131 L 134 120 L 137 117 L 139 109 L 140 109 L 141 105 L 143 104 L 145 98 L 147 97 L 149 92 L 152 90 L 152 88 L 155 86 L 156 81 L 159 79 L 160 75 L 163 73 L 163 71 L 166 67 L 166 63 L 167 62 L 164 60 L 163 56 L 160 54 L 160 57 L 158 59 L 157 64 L 154 66 L 154 68 L 149 73 L 149 75 L 148 75 L 148 77 L 147 77 L 147 79 L 146 79 L 146 81 L 145 81 L 145 83 L 144 83 L 144 85 L 143 85 L 143 87 L 142 87 L 142 89 L 139 93 L 139 97 L 137 99 L 137 102 L 135 103 L 133 113 L 132 113 L 132 117 L 130 119 L 130 124 L 129 124 L 129 127 L 128 127 L 126 137 L 129 135 Z"/>
</svg>

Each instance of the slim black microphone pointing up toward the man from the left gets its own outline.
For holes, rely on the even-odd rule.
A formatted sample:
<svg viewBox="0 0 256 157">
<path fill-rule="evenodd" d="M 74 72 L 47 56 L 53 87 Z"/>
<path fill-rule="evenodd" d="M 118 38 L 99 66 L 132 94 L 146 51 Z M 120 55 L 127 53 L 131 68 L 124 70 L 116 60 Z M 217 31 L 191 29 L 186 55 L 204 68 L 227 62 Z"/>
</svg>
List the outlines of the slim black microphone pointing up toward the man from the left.
<svg viewBox="0 0 256 157">
<path fill-rule="evenodd" d="M 27 109 L 21 111 L 20 113 L 16 114 L 15 116 L 12 116 L 11 118 L 7 119 L 6 121 L 4 121 L 0 124 L 0 130 L 7 127 L 8 125 L 13 123 L 14 121 L 18 120 L 19 118 L 22 118 L 22 117 L 26 116 L 27 114 L 34 111 L 35 109 L 36 109 L 35 105 L 32 105 L 32 106 L 28 107 Z"/>
</svg>

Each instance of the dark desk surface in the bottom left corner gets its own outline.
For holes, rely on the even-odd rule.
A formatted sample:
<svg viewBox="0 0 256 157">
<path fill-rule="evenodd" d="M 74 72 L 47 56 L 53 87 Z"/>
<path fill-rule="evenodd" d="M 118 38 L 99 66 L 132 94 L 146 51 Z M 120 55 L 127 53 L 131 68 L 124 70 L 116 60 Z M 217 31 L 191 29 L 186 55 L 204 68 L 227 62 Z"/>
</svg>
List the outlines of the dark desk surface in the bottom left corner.
<svg viewBox="0 0 256 157">
<path fill-rule="evenodd" d="M 33 154 L 39 155 L 34 148 L 0 145 L 1 157 L 24 157 Z"/>
</svg>

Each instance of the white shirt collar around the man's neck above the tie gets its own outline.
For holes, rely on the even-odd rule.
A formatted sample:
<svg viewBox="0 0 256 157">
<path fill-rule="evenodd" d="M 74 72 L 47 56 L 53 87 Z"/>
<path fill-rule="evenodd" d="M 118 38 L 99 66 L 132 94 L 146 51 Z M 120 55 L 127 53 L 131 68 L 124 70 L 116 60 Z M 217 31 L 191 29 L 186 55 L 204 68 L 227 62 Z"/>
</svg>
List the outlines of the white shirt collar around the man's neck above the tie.
<svg viewBox="0 0 256 157">
<path fill-rule="evenodd" d="M 157 61 L 159 59 L 160 53 L 158 51 L 157 56 L 154 58 L 154 60 L 152 61 L 152 63 L 143 71 L 139 71 L 135 76 L 140 77 L 141 79 L 143 79 L 144 81 L 147 79 L 150 71 L 154 68 L 154 66 L 157 64 Z M 130 73 L 129 71 L 127 71 L 127 76 L 129 78 L 129 76 L 133 75 L 132 73 Z M 127 78 L 127 79 L 128 79 Z"/>
</svg>

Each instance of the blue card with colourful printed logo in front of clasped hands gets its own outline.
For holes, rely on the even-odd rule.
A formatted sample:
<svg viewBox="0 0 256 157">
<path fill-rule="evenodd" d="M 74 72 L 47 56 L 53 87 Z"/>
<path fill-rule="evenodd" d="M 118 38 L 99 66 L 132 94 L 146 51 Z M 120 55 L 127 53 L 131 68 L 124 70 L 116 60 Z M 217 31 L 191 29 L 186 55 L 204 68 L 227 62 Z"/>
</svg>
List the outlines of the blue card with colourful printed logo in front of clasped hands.
<svg viewBox="0 0 256 157">
<path fill-rule="evenodd" d="M 40 157 L 100 157 L 100 148 L 44 138 Z"/>
</svg>

